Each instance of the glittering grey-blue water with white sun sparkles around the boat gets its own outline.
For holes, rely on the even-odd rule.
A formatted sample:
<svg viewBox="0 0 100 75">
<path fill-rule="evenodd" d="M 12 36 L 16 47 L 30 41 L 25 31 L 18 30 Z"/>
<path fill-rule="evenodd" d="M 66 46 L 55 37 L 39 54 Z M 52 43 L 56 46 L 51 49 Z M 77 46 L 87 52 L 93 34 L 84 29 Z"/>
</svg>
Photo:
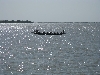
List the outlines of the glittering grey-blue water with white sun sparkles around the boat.
<svg viewBox="0 0 100 75">
<path fill-rule="evenodd" d="M 0 23 L 0 75 L 100 75 L 100 23 Z"/>
</svg>

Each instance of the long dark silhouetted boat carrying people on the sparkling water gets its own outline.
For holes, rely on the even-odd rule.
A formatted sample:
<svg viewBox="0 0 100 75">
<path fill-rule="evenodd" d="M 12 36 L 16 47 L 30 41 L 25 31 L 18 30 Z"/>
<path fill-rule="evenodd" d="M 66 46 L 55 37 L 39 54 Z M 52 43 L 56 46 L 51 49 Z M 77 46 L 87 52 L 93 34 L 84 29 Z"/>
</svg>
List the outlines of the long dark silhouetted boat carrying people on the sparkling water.
<svg viewBox="0 0 100 75">
<path fill-rule="evenodd" d="M 39 30 L 34 30 L 34 32 L 31 32 L 34 34 L 38 34 L 38 35 L 62 35 L 62 34 L 66 34 L 63 30 L 63 32 L 40 32 Z"/>
</svg>

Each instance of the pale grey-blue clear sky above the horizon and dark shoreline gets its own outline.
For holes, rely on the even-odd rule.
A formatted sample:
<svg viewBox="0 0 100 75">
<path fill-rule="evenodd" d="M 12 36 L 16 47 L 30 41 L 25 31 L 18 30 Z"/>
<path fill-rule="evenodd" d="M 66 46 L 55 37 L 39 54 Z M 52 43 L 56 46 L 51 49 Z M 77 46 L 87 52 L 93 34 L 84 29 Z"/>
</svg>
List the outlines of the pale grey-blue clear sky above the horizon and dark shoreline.
<svg viewBox="0 0 100 75">
<path fill-rule="evenodd" d="M 100 22 L 100 0 L 0 0 L 0 20 Z"/>
</svg>

